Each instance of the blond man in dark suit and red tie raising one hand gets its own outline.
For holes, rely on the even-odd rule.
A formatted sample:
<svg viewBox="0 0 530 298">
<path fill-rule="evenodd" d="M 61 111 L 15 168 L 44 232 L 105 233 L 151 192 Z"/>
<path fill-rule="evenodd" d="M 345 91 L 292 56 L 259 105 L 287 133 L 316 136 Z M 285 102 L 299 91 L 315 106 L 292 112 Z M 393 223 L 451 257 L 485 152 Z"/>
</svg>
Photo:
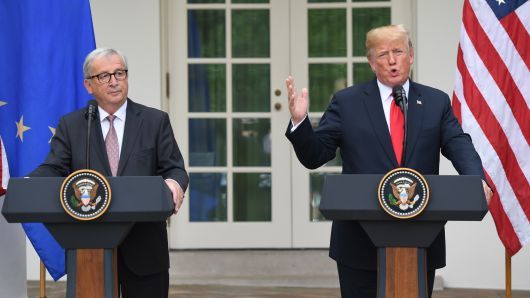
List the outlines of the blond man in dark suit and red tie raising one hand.
<svg viewBox="0 0 530 298">
<path fill-rule="evenodd" d="M 406 166 L 436 175 L 441 150 L 460 174 L 484 179 L 480 157 L 455 118 L 447 94 L 409 79 L 414 51 L 407 30 L 402 25 L 372 29 L 366 48 L 376 79 L 334 94 L 315 130 L 307 118 L 307 89 L 298 96 L 293 78 L 287 78 L 291 123 L 286 136 L 300 162 L 315 169 L 333 159 L 339 147 L 345 174 L 384 174 Z M 407 146 L 402 153 L 406 164 L 400 164 L 402 147 L 392 140 L 399 134 L 392 130 L 392 110 L 402 113 L 392 107 L 392 88 L 398 85 L 408 97 Z M 489 203 L 492 194 L 484 180 L 483 187 Z M 337 262 L 342 297 L 376 297 L 377 251 L 358 222 L 333 222 L 329 254 Z M 427 249 L 429 295 L 435 269 L 444 266 L 442 231 Z"/>
</svg>

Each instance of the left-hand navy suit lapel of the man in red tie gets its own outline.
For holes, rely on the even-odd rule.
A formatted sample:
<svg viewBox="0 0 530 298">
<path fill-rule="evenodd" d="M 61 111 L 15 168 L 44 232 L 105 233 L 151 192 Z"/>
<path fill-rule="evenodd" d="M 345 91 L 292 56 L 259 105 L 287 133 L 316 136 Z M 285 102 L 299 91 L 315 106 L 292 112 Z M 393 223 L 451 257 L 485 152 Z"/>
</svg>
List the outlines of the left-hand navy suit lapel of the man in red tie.
<svg viewBox="0 0 530 298">
<path fill-rule="evenodd" d="M 397 167 L 396 155 L 392 147 L 390 132 L 386 124 L 385 112 L 383 111 L 383 104 L 381 102 L 381 95 L 377 87 L 377 81 L 373 80 L 371 84 L 364 90 L 364 107 L 366 114 L 370 119 L 372 127 L 383 147 L 387 157 L 392 162 L 393 167 Z"/>
</svg>

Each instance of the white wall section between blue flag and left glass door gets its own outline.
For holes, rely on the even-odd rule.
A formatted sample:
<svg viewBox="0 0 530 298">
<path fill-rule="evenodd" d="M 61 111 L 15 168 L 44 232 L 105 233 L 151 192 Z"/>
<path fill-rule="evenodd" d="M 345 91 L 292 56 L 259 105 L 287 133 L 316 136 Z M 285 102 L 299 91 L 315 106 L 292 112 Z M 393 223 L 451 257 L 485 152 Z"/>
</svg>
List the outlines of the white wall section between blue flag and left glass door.
<svg viewBox="0 0 530 298">
<path fill-rule="evenodd" d="M 160 3 L 90 0 L 97 47 L 122 51 L 129 63 L 129 97 L 160 108 Z"/>
</svg>

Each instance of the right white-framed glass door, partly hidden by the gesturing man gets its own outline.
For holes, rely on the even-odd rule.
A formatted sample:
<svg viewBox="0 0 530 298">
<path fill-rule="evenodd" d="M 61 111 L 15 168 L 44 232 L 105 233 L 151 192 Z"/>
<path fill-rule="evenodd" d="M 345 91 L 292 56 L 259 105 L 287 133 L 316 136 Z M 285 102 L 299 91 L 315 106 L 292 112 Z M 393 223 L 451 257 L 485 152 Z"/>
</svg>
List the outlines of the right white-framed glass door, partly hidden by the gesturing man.
<svg viewBox="0 0 530 298">
<path fill-rule="evenodd" d="M 409 1 L 292 0 L 291 66 L 298 89 L 309 88 L 309 118 L 314 127 L 333 93 L 373 78 L 365 53 L 371 28 L 405 23 Z M 319 211 L 324 177 L 341 173 L 340 151 L 316 170 L 292 158 L 293 247 L 328 247 L 331 222 Z"/>
</svg>

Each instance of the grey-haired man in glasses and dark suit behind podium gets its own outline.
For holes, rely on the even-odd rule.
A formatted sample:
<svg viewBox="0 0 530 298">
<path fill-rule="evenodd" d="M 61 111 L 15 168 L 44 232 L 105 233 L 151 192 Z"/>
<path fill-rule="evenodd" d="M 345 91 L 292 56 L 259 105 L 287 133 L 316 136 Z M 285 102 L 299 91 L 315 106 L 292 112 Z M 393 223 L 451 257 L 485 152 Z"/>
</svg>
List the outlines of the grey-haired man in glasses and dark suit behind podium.
<svg viewBox="0 0 530 298">
<path fill-rule="evenodd" d="M 168 115 L 127 98 L 127 60 L 119 51 L 96 49 L 83 69 L 99 111 L 91 127 L 91 169 L 106 176 L 162 176 L 177 213 L 188 175 Z M 86 167 L 85 110 L 61 118 L 50 153 L 30 176 L 67 176 Z M 136 223 L 118 247 L 122 297 L 167 297 L 168 269 L 166 223 Z"/>
</svg>

